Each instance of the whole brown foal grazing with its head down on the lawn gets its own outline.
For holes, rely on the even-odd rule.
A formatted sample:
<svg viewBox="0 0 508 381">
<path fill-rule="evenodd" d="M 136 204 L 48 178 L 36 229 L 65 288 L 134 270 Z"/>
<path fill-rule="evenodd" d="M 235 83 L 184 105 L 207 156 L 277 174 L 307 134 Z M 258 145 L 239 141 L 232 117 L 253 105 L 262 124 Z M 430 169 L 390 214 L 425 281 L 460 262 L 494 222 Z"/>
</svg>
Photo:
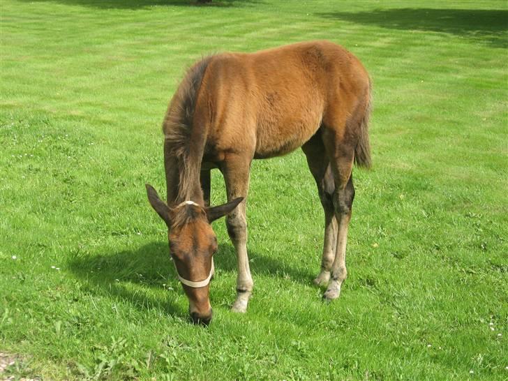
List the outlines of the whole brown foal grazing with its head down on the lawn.
<svg viewBox="0 0 508 381">
<path fill-rule="evenodd" d="M 223 53 L 192 66 L 163 122 L 167 203 L 147 184 L 168 227 L 170 252 L 194 322 L 211 320 L 209 280 L 217 239 L 211 222 L 226 217 L 237 252 L 237 299 L 253 291 L 247 257 L 246 197 L 251 162 L 302 148 L 324 209 L 317 285 L 336 299 L 346 278 L 345 246 L 354 187 L 353 163 L 371 165 L 371 81 L 360 61 L 328 41 L 252 54 Z M 210 207 L 210 170 L 225 179 L 227 204 Z"/>
</svg>

